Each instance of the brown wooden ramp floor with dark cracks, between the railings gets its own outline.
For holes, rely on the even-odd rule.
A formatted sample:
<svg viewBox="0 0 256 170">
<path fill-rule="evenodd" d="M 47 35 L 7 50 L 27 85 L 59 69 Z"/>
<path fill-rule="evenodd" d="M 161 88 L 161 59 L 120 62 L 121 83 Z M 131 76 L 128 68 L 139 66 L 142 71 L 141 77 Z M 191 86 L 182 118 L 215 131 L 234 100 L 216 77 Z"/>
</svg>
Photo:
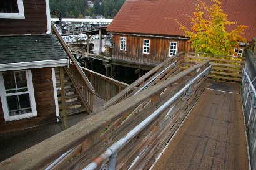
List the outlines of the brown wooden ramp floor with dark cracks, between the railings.
<svg viewBox="0 0 256 170">
<path fill-rule="evenodd" d="M 210 80 L 152 169 L 249 169 L 236 83 Z"/>
</svg>

